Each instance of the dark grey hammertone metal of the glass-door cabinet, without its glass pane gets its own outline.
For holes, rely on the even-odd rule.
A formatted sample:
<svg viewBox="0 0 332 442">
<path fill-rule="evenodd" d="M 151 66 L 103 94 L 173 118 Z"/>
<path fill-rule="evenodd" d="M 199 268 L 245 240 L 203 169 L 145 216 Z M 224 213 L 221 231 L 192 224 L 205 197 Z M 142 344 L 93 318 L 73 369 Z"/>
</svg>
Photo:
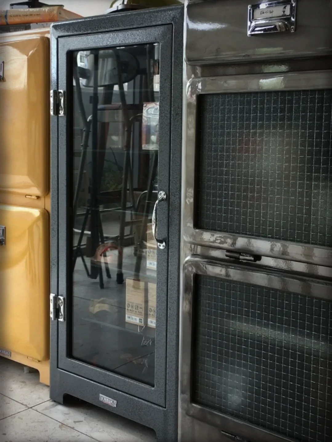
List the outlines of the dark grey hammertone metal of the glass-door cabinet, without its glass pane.
<svg viewBox="0 0 332 442">
<path fill-rule="evenodd" d="M 169 164 L 165 171 L 161 169 L 161 179 L 169 186 L 168 211 L 169 218 L 168 237 L 168 291 L 161 309 L 164 310 L 164 328 L 159 331 L 165 336 L 166 353 L 161 355 L 158 365 L 164 367 L 164 373 L 158 381 L 163 385 L 163 391 L 155 394 L 154 389 L 147 392 L 145 385 L 135 381 L 115 376 L 97 368 L 81 364 L 81 372 L 66 371 L 59 368 L 63 362 L 62 348 L 69 337 L 63 334 L 63 325 L 53 321 L 51 323 L 51 399 L 63 403 L 64 395 L 69 394 L 86 400 L 97 406 L 110 410 L 108 404 L 99 400 L 99 395 L 115 400 L 116 408 L 112 412 L 142 423 L 154 429 L 158 442 L 176 441 L 178 429 L 178 330 L 179 330 L 179 244 L 180 244 L 180 200 L 181 200 L 181 115 L 182 115 L 182 60 L 183 60 L 183 7 L 174 6 L 156 10 L 133 11 L 116 13 L 107 16 L 80 19 L 72 22 L 54 24 L 51 27 L 51 88 L 57 89 L 60 84 L 66 83 L 66 78 L 60 72 L 66 72 L 66 56 L 59 47 L 66 47 L 66 41 L 74 38 L 79 47 L 89 46 L 89 38 L 102 34 L 100 42 L 107 38 L 110 42 L 116 41 L 115 30 L 128 30 L 127 38 L 141 31 L 142 42 L 150 41 L 155 36 L 154 27 L 166 29 L 164 44 L 171 49 L 171 83 L 170 89 L 164 91 L 165 99 L 169 97 L 170 114 L 170 155 Z M 115 40 L 114 40 L 115 39 Z M 153 41 L 153 40 L 152 40 Z M 63 43 L 60 43 L 63 42 Z M 116 41 L 116 44 L 120 42 Z M 77 47 L 77 46 L 76 46 Z M 166 46 L 167 48 L 168 46 Z M 68 48 L 75 49 L 75 47 Z M 162 53 L 161 53 L 162 56 Z M 62 121 L 61 121 L 62 120 Z M 59 280 L 63 277 L 63 260 L 59 254 L 59 244 L 65 244 L 62 226 L 63 201 L 59 194 L 64 194 L 66 188 L 59 181 L 58 171 L 64 170 L 65 160 L 59 156 L 61 143 L 66 140 L 66 119 L 51 119 L 51 292 L 59 293 Z M 60 215 L 59 215 L 60 214 Z M 69 313 L 70 314 L 70 313 Z M 73 361 L 66 359 L 66 363 Z M 73 369 L 77 370 L 73 365 Z M 90 373 L 83 377 L 82 373 Z M 81 374 L 81 375 L 80 375 Z M 95 379 L 93 381 L 92 379 Z M 99 379 L 99 381 L 96 381 Z M 108 384 L 105 385 L 105 384 Z M 112 385 L 112 387 L 110 386 Z M 156 384 L 157 385 L 157 384 Z M 158 389 L 158 385 L 157 385 Z M 145 399 L 143 398 L 145 397 Z M 150 398 L 150 400 L 149 400 Z M 159 405 L 157 405 L 159 403 Z M 162 405 L 161 405 L 162 404 Z"/>
</svg>

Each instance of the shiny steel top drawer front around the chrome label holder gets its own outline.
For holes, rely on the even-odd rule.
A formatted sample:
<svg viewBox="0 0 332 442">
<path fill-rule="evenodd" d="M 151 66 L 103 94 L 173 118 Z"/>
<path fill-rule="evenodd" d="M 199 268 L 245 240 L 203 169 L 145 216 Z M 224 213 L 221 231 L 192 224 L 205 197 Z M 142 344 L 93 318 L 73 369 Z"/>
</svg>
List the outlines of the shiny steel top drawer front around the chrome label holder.
<svg viewBox="0 0 332 442">
<path fill-rule="evenodd" d="M 193 65 L 278 60 L 332 53 L 332 3 L 300 0 L 296 30 L 247 36 L 248 5 L 263 0 L 198 0 L 185 7 L 185 59 Z"/>
</svg>

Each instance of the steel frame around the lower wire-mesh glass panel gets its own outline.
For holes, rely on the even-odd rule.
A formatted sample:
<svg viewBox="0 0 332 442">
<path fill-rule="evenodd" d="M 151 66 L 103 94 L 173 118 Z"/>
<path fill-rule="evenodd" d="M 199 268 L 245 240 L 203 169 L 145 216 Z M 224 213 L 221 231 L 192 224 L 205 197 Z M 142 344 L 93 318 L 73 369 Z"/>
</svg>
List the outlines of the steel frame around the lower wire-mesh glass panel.
<svg viewBox="0 0 332 442">
<path fill-rule="evenodd" d="M 194 275 L 212 276 L 229 281 L 241 281 L 257 286 L 269 287 L 276 290 L 289 290 L 293 293 L 313 296 L 332 301 L 331 283 L 309 279 L 304 276 L 285 275 L 278 271 L 264 271 L 258 267 L 234 265 L 229 261 L 217 262 L 190 256 L 183 266 L 183 304 L 181 311 L 180 333 L 180 381 L 179 381 L 179 419 L 186 422 L 186 417 L 197 419 L 201 423 L 220 428 L 221 434 L 233 434 L 245 440 L 255 442 L 295 442 L 293 438 L 278 435 L 263 427 L 247 423 L 226 414 L 213 411 L 191 401 L 191 372 L 192 372 L 192 335 L 193 335 L 193 288 Z M 305 284 L 304 284 L 305 282 Z M 305 292 L 304 292 L 305 290 Z M 181 426 L 180 426 L 181 427 Z M 224 433 L 225 432 L 225 433 Z M 183 429 L 181 431 L 182 435 Z M 182 436 L 181 436 L 182 437 Z M 180 439 L 187 440 L 187 439 Z"/>
</svg>

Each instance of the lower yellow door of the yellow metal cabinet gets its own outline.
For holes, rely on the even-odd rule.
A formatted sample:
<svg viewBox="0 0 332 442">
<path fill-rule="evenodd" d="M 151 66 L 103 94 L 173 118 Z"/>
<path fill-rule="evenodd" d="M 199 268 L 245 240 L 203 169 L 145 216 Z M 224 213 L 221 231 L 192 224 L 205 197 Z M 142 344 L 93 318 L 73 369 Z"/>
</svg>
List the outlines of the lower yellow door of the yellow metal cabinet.
<svg viewBox="0 0 332 442">
<path fill-rule="evenodd" d="M 49 358 L 49 215 L 0 205 L 0 348 Z"/>
</svg>

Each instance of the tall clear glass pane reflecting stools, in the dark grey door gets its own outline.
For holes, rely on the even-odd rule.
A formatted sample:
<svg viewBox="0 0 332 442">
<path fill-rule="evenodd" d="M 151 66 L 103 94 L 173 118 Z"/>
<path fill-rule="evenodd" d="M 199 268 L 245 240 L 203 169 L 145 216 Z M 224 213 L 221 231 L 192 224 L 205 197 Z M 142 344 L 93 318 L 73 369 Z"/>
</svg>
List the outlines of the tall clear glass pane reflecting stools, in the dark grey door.
<svg viewBox="0 0 332 442">
<path fill-rule="evenodd" d="M 72 356 L 154 385 L 159 46 L 73 53 Z"/>
</svg>

